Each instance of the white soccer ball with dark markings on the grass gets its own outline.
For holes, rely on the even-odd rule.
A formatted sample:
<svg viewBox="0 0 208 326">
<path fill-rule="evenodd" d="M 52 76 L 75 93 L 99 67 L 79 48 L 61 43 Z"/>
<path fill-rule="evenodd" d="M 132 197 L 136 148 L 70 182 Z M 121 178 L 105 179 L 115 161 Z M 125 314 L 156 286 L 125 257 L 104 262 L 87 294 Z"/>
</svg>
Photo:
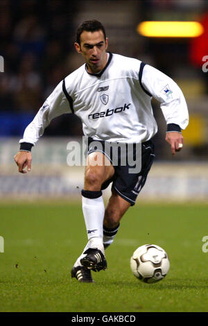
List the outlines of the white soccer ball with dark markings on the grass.
<svg viewBox="0 0 208 326">
<path fill-rule="evenodd" d="M 164 249 L 146 244 L 135 250 L 130 259 L 130 267 L 132 273 L 142 282 L 155 283 L 166 276 L 170 261 Z"/>
</svg>

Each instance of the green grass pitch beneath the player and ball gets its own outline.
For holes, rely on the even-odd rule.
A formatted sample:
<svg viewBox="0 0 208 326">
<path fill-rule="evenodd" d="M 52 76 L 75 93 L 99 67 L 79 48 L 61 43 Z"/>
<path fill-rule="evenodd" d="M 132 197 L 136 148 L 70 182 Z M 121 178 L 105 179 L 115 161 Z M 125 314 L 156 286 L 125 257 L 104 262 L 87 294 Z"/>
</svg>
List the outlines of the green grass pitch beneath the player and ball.
<svg viewBox="0 0 208 326">
<path fill-rule="evenodd" d="M 71 279 L 87 242 L 80 203 L 1 203 L 0 311 L 208 311 L 205 204 L 139 204 L 123 216 L 94 284 Z M 164 280 L 144 284 L 130 271 L 132 252 L 155 243 L 168 252 Z M 208 246 L 207 246 L 208 247 Z"/>
</svg>

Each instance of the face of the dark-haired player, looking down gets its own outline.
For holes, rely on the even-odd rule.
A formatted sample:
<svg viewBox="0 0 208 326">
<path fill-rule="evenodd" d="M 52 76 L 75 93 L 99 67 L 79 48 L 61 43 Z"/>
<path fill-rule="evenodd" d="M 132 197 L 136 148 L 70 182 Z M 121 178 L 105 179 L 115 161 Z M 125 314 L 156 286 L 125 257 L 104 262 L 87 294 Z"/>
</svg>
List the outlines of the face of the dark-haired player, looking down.
<svg viewBox="0 0 208 326">
<path fill-rule="evenodd" d="M 107 39 L 103 31 L 87 32 L 80 35 L 80 44 L 74 44 L 76 51 L 81 53 L 87 64 L 89 73 L 96 74 L 101 71 L 107 63 Z"/>
</svg>

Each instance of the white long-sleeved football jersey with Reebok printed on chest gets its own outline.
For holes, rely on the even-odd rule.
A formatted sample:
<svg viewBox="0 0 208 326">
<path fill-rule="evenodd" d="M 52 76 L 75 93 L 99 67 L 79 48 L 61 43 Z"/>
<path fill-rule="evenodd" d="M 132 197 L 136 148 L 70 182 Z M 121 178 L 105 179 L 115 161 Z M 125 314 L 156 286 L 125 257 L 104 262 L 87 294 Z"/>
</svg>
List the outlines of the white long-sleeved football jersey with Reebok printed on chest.
<svg viewBox="0 0 208 326">
<path fill-rule="evenodd" d="M 148 141 L 157 132 L 153 97 L 161 103 L 166 123 L 187 127 L 187 104 L 171 78 L 137 59 L 109 53 L 107 65 L 99 74 L 89 74 L 82 65 L 64 78 L 19 142 L 35 145 L 51 119 L 69 112 L 80 117 L 84 135 L 93 139 Z"/>
</svg>

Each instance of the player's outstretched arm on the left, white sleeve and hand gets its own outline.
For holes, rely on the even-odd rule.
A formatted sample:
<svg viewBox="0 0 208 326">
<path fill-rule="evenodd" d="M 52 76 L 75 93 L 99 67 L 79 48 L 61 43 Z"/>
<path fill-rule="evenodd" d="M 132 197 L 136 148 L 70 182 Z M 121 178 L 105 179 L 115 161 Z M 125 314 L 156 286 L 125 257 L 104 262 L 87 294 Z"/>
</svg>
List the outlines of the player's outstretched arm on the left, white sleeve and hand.
<svg viewBox="0 0 208 326">
<path fill-rule="evenodd" d="M 14 157 L 20 173 L 26 173 L 24 170 L 26 166 L 28 167 L 27 170 L 31 171 L 31 149 L 43 135 L 45 128 L 49 126 L 51 120 L 61 114 L 71 113 L 71 106 L 64 92 L 63 81 L 61 81 L 46 99 L 33 121 L 24 130 L 24 136 L 19 141 L 19 152 Z"/>
</svg>

